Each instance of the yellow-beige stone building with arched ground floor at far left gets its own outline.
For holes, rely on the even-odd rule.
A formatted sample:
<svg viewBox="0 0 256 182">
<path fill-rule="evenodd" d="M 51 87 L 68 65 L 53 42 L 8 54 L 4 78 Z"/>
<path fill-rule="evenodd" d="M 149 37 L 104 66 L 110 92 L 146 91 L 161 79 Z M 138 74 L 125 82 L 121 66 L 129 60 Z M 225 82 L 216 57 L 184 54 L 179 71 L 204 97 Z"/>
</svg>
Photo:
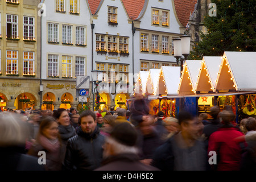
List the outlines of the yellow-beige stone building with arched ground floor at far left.
<svg viewBox="0 0 256 182">
<path fill-rule="evenodd" d="M 0 108 L 40 108 L 38 2 L 0 1 Z"/>
</svg>

